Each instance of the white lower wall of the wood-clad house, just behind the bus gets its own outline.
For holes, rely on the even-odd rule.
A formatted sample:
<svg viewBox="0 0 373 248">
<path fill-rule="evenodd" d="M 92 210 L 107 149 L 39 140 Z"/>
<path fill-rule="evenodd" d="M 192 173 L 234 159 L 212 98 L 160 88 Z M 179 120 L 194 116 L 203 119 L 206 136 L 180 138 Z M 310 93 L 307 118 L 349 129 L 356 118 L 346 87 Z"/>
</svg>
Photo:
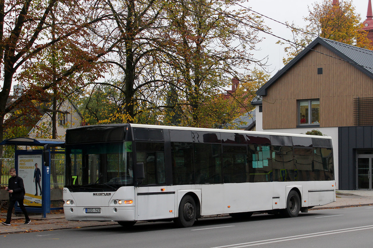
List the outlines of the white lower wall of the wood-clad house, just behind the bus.
<svg viewBox="0 0 373 248">
<path fill-rule="evenodd" d="M 263 113 L 259 112 L 259 106 L 256 106 L 256 131 L 259 132 L 274 132 L 274 133 L 296 133 L 305 134 L 307 131 L 317 129 L 326 136 L 332 137 L 333 142 L 333 160 L 334 160 L 334 175 L 335 185 L 338 189 L 338 127 L 332 128 L 284 128 L 284 129 L 263 129 Z M 274 120 L 275 121 L 275 120 Z"/>
</svg>

